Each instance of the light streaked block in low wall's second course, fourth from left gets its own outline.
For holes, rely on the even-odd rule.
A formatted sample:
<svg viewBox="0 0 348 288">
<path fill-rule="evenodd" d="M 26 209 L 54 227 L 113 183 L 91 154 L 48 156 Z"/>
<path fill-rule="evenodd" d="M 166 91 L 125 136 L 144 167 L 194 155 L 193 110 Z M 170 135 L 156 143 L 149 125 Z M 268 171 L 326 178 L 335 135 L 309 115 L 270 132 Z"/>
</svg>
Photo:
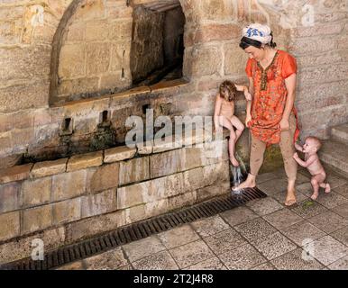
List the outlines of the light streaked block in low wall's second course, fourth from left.
<svg viewBox="0 0 348 288">
<path fill-rule="evenodd" d="M 110 189 L 102 193 L 82 197 L 81 217 L 86 218 L 105 214 L 116 209 L 116 190 Z"/>
</svg>

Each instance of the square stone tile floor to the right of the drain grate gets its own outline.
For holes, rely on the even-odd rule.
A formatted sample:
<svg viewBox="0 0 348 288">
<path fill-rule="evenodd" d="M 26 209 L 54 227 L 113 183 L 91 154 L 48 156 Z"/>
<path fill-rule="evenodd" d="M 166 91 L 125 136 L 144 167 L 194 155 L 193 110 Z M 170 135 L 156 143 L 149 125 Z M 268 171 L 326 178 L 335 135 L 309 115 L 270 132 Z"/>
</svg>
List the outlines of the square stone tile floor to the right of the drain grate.
<svg viewBox="0 0 348 288">
<path fill-rule="evenodd" d="M 328 174 L 333 192 L 316 202 L 306 171 L 290 208 L 285 173 L 263 174 L 258 186 L 268 198 L 59 269 L 348 270 L 348 181 Z"/>
</svg>

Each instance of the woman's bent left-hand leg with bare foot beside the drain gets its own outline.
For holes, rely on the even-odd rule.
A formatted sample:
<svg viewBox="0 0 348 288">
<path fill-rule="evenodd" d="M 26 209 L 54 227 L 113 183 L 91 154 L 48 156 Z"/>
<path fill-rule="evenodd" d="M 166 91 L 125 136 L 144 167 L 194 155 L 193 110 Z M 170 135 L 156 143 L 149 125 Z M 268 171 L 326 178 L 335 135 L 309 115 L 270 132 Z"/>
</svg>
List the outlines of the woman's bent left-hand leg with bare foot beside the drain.
<svg viewBox="0 0 348 288">
<path fill-rule="evenodd" d="M 253 188 L 256 186 L 256 176 L 259 174 L 263 163 L 263 154 L 266 150 L 266 143 L 252 136 L 252 148 L 250 151 L 250 174 L 248 178 L 235 190 Z"/>
</svg>

